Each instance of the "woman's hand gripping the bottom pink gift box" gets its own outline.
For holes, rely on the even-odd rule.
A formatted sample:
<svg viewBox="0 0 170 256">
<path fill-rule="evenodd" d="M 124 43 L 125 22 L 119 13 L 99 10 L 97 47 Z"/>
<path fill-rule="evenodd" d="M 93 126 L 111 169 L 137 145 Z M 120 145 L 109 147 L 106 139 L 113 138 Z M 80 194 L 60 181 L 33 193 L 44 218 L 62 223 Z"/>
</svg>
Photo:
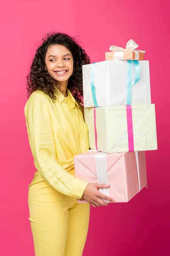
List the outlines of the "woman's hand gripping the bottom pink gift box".
<svg viewBox="0 0 170 256">
<path fill-rule="evenodd" d="M 85 199 L 91 206 L 107 206 L 108 203 L 102 201 L 102 199 L 108 200 L 110 202 L 115 202 L 115 200 L 107 195 L 103 195 L 99 192 L 99 188 L 108 188 L 109 185 L 97 184 L 97 183 L 88 183 L 85 188 L 85 191 L 82 195 L 82 198 Z"/>
</svg>

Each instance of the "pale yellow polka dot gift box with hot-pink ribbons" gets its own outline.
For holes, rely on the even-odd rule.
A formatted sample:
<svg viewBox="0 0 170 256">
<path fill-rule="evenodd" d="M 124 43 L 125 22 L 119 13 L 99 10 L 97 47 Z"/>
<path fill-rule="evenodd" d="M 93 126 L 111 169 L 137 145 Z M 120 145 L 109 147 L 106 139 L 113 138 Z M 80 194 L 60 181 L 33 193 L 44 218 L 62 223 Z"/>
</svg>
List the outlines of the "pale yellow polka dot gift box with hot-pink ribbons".
<svg viewBox="0 0 170 256">
<path fill-rule="evenodd" d="M 157 149 L 155 105 L 85 108 L 90 148 L 105 153 Z"/>
</svg>

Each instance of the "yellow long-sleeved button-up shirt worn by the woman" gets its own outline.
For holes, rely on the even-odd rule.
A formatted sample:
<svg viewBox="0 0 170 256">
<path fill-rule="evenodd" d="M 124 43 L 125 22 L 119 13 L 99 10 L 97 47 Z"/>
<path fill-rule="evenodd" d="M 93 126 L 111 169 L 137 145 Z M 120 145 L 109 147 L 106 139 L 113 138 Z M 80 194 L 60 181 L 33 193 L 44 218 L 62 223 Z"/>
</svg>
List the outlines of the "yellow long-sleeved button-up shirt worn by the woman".
<svg viewBox="0 0 170 256">
<path fill-rule="evenodd" d="M 82 198 L 87 182 L 74 177 L 74 155 L 89 149 L 88 128 L 71 92 L 55 103 L 42 91 L 25 106 L 26 125 L 37 172 L 29 187 L 46 181 L 62 194 Z"/>
</svg>

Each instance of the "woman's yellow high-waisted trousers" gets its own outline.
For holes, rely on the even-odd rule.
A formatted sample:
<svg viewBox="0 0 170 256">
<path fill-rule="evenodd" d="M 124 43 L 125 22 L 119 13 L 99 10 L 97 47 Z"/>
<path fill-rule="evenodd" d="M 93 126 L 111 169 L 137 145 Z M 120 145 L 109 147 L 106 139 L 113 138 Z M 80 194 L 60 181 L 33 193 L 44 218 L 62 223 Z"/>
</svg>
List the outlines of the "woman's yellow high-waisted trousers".
<svg viewBox="0 0 170 256">
<path fill-rule="evenodd" d="M 89 204 L 77 204 L 42 181 L 29 188 L 28 206 L 36 256 L 82 256 Z"/>
</svg>

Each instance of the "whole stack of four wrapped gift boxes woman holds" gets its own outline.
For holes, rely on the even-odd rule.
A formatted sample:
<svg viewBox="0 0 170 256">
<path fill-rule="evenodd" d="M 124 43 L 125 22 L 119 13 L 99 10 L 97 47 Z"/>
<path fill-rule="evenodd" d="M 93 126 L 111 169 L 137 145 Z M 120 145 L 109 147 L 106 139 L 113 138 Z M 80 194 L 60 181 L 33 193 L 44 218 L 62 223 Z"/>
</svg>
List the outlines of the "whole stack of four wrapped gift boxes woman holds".
<svg viewBox="0 0 170 256">
<path fill-rule="evenodd" d="M 116 202 L 128 202 L 147 185 L 144 151 L 157 149 L 149 61 L 136 47 L 133 40 L 126 49 L 112 46 L 105 61 L 82 67 L 91 150 L 74 157 L 75 175 L 109 184 L 100 192 Z"/>
</svg>

